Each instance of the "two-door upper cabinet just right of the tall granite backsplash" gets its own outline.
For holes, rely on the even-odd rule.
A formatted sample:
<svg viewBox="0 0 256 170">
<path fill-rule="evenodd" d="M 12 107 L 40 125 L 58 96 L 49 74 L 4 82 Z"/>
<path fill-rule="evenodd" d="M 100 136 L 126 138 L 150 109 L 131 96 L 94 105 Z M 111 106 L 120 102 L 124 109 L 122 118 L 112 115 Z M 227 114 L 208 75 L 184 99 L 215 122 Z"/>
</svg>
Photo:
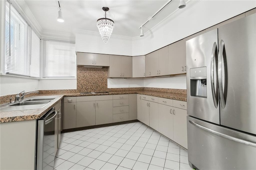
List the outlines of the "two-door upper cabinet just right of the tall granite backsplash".
<svg viewBox="0 0 256 170">
<path fill-rule="evenodd" d="M 132 77 L 132 57 L 122 55 L 110 55 L 110 67 L 108 68 L 108 77 Z"/>
</svg>

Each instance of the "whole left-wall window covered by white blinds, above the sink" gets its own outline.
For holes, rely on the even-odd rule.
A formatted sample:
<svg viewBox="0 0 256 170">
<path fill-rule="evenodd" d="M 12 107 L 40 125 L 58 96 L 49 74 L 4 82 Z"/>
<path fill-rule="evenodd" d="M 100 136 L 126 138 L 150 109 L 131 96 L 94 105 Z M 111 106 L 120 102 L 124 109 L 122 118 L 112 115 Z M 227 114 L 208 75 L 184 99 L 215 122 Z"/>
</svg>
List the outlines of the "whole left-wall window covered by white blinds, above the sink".
<svg viewBox="0 0 256 170">
<path fill-rule="evenodd" d="M 40 77 L 40 38 L 8 1 L 4 7 L 4 72 Z"/>
</svg>

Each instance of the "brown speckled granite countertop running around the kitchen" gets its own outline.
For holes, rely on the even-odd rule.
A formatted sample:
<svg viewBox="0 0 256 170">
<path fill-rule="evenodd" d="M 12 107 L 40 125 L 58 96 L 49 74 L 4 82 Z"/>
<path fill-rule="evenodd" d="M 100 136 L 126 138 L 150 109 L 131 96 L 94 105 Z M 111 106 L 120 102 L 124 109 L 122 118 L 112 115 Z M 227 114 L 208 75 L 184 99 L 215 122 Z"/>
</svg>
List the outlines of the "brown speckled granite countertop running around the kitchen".
<svg viewBox="0 0 256 170">
<path fill-rule="evenodd" d="M 148 90 L 111 91 L 109 93 L 100 93 L 100 94 L 80 94 L 80 93 L 45 94 L 45 95 L 58 95 L 58 97 L 56 99 L 54 99 L 54 101 L 49 103 L 49 105 L 46 105 L 42 109 L 1 112 L 1 114 L 0 114 L 0 123 L 40 119 L 47 111 L 49 111 L 52 108 L 52 106 L 54 106 L 63 97 L 95 96 L 95 95 L 119 95 L 119 94 L 134 94 L 134 93 L 141 94 L 141 95 L 150 95 L 150 96 L 162 97 L 162 98 L 167 98 L 167 99 L 180 100 L 180 101 L 187 101 L 187 95 L 186 94 L 168 93 L 168 92 L 160 92 L 160 91 L 148 91 Z"/>
</svg>

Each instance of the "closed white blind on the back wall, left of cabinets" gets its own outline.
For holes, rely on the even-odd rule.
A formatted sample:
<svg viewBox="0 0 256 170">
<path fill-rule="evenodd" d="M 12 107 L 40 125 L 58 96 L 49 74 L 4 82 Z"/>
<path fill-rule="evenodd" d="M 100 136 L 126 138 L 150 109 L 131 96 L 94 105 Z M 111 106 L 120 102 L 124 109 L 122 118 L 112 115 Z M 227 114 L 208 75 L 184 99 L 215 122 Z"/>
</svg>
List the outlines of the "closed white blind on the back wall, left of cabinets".
<svg viewBox="0 0 256 170">
<path fill-rule="evenodd" d="M 75 77 L 75 44 L 46 41 L 43 77 Z"/>
</svg>

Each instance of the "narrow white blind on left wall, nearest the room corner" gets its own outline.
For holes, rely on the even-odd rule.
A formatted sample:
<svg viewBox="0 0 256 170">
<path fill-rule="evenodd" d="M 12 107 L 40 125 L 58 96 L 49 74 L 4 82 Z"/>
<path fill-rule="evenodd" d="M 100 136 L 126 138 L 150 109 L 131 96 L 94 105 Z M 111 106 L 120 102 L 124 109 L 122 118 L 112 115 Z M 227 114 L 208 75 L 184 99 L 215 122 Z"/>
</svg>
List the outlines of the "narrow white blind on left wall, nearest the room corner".
<svg viewBox="0 0 256 170">
<path fill-rule="evenodd" d="M 30 76 L 40 77 L 40 38 L 31 31 Z"/>
</svg>

